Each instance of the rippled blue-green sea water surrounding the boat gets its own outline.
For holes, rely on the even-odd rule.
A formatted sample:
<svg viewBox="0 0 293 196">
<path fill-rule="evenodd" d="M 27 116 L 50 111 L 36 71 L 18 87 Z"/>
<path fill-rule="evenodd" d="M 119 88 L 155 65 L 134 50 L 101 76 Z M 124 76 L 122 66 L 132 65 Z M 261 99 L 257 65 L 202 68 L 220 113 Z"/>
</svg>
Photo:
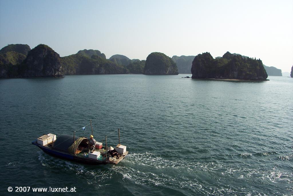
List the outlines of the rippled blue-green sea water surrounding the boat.
<svg viewBox="0 0 293 196">
<path fill-rule="evenodd" d="M 77 195 L 293 195 L 293 78 L 184 76 L 0 80 L 1 195 L 16 186 L 76 187 Z M 73 134 L 90 119 L 103 143 L 121 129 L 129 155 L 118 165 L 53 158 L 31 144 L 44 133 Z"/>
</svg>

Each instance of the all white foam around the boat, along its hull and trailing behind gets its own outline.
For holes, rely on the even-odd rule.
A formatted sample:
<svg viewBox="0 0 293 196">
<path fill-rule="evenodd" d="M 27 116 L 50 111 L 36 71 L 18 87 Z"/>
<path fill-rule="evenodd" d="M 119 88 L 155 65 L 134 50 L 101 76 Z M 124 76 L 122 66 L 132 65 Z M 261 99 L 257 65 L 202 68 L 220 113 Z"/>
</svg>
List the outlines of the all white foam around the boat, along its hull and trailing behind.
<svg viewBox="0 0 293 196">
<path fill-rule="evenodd" d="M 248 154 L 249 156 L 250 154 Z M 49 159 L 49 160 L 48 160 Z M 97 187 L 107 187 L 107 185 L 99 182 L 111 180 L 114 174 L 120 174 L 123 181 L 131 181 L 134 184 L 146 185 L 149 187 L 170 187 L 172 189 L 183 189 L 194 193 L 204 195 L 230 195 L 243 194 L 255 195 L 246 189 L 234 189 L 221 187 L 221 183 L 207 185 L 201 182 L 196 173 L 204 173 L 207 177 L 218 176 L 220 179 L 245 179 L 246 182 L 254 182 L 254 179 L 260 178 L 266 183 L 276 183 L 278 180 L 285 180 L 292 183 L 292 172 L 282 173 L 278 171 L 278 167 L 272 168 L 270 171 L 234 167 L 221 163 L 201 163 L 183 159 L 166 160 L 153 153 L 134 153 L 129 154 L 127 158 L 118 165 L 104 167 L 103 169 L 92 169 L 78 163 L 72 163 L 67 160 L 52 158 L 40 151 L 39 160 L 45 167 L 51 167 L 62 170 L 71 170 L 76 175 L 90 175 L 93 178 L 88 179 L 89 185 L 97 185 Z M 178 174 L 178 175 L 177 175 Z M 221 174 L 222 177 L 219 176 Z M 220 182 L 220 180 L 219 180 Z M 247 189 L 249 190 L 249 189 Z"/>
</svg>

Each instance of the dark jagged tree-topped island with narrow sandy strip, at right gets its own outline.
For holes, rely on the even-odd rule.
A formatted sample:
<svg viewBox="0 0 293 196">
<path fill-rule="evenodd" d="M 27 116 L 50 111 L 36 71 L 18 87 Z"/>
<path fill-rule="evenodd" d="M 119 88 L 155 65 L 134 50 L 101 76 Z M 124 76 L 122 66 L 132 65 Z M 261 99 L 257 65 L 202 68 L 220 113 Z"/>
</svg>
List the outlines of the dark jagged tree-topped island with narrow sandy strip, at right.
<svg viewBox="0 0 293 196">
<path fill-rule="evenodd" d="M 260 59 L 243 58 L 226 52 L 214 59 L 208 52 L 195 56 L 191 67 L 192 78 L 266 80 L 268 74 Z"/>
</svg>

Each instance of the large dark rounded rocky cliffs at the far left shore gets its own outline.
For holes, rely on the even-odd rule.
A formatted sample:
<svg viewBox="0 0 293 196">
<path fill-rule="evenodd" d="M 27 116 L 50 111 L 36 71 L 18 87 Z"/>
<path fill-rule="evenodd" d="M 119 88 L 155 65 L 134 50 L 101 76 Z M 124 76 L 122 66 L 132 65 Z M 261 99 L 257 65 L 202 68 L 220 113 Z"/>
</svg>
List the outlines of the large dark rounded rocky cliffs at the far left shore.
<svg viewBox="0 0 293 196">
<path fill-rule="evenodd" d="M 61 58 L 52 48 L 39 44 L 11 44 L 0 52 L 0 77 L 62 76 Z"/>
</svg>

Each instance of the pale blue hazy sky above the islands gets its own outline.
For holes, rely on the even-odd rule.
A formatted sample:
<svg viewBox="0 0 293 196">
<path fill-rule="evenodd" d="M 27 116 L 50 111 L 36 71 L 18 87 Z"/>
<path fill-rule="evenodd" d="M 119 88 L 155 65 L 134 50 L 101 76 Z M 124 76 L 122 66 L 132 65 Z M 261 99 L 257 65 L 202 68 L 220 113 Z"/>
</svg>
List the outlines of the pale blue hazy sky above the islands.
<svg viewBox="0 0 293 196">
<path fill-rule="evenodd" d="M 94 49 L 140 60 L 229 51 L 291 72 L 292 21 L 292 0 L 0 0 L 0 48 L 42 43 L 60 56 Z"/>
</svg>

